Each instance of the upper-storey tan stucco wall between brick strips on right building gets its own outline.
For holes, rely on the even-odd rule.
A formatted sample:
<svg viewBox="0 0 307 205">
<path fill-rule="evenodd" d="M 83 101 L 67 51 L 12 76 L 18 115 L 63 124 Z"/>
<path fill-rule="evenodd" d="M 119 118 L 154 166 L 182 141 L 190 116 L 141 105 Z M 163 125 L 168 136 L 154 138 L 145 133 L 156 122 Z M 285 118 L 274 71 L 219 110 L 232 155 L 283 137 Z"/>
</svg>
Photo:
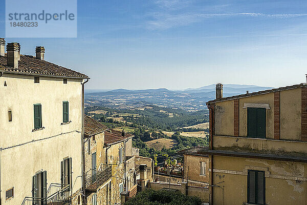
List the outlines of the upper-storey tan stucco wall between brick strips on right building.
<svg viewBox="0 0 307 205">
<path fill-rule="evenodd" d="M 280 139 L 301 138 L 301 88 L 280 91 Z M 266 109 L 266 138 L 274 139 L 274 93 L 239 98 L 239 136 L 247 137 L 245 103 L 269 104 Z M 215 103 L 215 135 L 233 136 L 233 100 Z"/>
</svg>

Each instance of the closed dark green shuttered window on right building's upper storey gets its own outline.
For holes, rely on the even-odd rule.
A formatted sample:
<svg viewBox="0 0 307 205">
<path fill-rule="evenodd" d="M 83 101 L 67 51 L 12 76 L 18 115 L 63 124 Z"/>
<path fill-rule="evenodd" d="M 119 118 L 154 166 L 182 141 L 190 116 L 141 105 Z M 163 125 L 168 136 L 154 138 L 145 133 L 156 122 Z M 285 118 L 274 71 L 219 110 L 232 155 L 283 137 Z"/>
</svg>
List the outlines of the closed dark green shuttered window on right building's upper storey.
<svg viewBox="0 0 307 205">
<path fill-rule="evenodd" d="M 247 136 L 266 138 L 265 108 L 247 108 Z"/>
</svg>

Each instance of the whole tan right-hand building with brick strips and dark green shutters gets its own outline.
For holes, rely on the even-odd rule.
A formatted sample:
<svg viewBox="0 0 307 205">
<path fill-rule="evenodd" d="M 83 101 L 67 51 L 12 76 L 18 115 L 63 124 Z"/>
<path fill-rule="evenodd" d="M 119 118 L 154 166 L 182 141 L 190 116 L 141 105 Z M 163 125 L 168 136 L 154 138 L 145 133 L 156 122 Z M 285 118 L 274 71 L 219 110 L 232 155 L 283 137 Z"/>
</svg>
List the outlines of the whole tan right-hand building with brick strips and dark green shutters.
<svg viewBox="0 0 307 205">
<path fill-rule="evenodd" d="M 307 204 L 306 84 L 207 105 L 210 204 Z"/>
</svg>

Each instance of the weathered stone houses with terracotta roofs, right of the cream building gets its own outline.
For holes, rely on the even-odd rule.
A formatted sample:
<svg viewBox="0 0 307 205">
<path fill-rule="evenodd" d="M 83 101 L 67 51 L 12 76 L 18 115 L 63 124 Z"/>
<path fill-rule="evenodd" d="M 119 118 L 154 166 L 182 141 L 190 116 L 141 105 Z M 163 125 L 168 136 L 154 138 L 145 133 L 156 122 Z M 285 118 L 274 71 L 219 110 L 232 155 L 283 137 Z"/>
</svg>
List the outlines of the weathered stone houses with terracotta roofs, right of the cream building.
<svg viewBox="0 0 307 205">
<path fill-rule="evenodd" d="M 132 147 L 133 135 L 107 130 L 89 116 L 84 116 L 84 126 L 87 204 L 120 204 L 121 193 L 131 197 L 137 192 L 140 164 L 146 164 L 148 177 L 152 178 L 152 160 L 133 155 L 137 153 Z"/>
</svg>

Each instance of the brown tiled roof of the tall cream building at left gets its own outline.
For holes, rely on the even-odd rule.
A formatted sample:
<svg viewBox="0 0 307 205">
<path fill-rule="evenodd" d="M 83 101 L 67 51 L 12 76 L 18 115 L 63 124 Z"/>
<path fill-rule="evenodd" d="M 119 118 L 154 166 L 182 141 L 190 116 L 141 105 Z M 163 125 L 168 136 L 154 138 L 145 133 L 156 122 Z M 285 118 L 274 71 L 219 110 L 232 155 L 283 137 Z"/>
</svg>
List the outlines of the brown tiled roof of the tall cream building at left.
<svg viewBox="0 0 307 205">
<path fill-rule="evenodd" d="M 7 55 L 0 56 L 0 72 L 1 71 L 26 75 L 46 75 L 81 79 L 89 78 L 87 75 L 58 66 L 46 60 L 40 60 L 32 55 L 20 55 L 17 69 L 7 65 Z"/>
</svg>

